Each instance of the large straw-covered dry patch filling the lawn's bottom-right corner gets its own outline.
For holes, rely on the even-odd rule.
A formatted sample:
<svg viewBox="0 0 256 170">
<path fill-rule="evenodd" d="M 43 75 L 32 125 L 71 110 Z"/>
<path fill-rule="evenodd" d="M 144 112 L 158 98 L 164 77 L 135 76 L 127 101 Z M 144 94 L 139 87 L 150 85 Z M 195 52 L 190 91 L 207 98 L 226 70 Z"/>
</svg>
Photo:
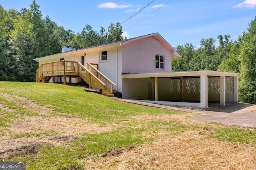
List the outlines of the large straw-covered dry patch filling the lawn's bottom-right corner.
<svg viewBox="0 0 256 170">
<path fill-rule="evenodd" d="M 210 134 L 208 130 L 192 130 L 173 136 L 162 131 L 157 141 L 88 163 L 96 169 L 255 169 L 255 147 L 220 142 L 210 139 Z"/>
</svg>

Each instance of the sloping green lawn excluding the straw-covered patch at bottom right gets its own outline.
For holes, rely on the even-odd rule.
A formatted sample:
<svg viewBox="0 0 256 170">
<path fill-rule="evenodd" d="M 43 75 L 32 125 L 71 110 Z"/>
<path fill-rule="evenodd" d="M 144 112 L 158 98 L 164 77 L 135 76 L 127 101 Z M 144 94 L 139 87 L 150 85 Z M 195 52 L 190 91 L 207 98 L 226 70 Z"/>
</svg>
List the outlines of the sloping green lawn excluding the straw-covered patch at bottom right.
<svg viewBox="0 0 256 170">
<path fill-rule="evenodd" d="M 256 128 L 186 120 L 193 115 L 116 101 L 84 87 L 0 82 L 0 161 L 26 161 L 27 169 L 90 169 L 109 153 L 117 157 L 162 140 L 162 132 L 174 138 L 200 130 L 211 132 L 207 140 L 255 148 Z"/>
</svg>

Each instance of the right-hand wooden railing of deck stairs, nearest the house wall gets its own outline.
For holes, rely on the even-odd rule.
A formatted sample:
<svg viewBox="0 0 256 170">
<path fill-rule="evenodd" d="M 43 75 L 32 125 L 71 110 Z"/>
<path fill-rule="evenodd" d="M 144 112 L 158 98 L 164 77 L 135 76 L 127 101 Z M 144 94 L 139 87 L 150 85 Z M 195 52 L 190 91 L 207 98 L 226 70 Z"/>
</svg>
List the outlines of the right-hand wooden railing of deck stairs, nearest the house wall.
<svg viewBox="0 0 256 170">
<path fill-rule="evenodd" d="M 88 70 L 94 74 L 100 81 L 102 81 L 105 85 L 105 88 L 107 88 L 111 93 L 113 92 L 113 83 L 110 79 L 108 79 L 105 75 L 103 75 L 98 69 L 96 69 L 92 64 L 87 63 Z"/>
</svg>

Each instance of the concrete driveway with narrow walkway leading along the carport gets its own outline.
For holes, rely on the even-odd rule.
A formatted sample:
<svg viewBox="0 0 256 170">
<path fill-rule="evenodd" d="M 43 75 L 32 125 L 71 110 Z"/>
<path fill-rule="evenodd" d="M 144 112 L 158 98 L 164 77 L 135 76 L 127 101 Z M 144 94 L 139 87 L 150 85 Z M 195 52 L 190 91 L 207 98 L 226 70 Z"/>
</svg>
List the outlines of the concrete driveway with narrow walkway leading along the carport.
<svg viewBox="0 0 256 170">
<path fill-rule="evenodd" d="M 226 106 L 219 106 L 219 103 L 209 103 L 207 111 L 198 111 L 192 109 L 184 109 L 165 105 L 147 103 L 145 101 L 127 100 L 113 97 L 116 100 L 138 105 L 146 105 L 151 107 L 159 107 L 172 110 L 188 111 L 200 113 L 190 120 L 209 121 L 222 123 L 224 125 L 239 125 L 245 127 L 256 127 L 256 105 L 247 103 L 226 103 Z"/>
</svg>

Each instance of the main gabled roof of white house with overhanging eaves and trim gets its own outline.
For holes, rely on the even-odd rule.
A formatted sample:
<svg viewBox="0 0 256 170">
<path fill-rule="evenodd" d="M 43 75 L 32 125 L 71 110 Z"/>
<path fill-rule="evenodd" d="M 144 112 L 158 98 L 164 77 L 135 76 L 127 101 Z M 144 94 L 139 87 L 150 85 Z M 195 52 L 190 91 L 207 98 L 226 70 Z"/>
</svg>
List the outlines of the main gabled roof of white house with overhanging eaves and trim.
<svg viewBox="0 0 256 170">
<path fill-rule="evenodd" d="M 66 54 L 66 53 L 72 54 L 72 53 L 77 53 L 78 51 L 83 52 L 83 51 L 88 51 L 89 49 L 94 49 L 94 48 L 104 47 L 104 46 L 109 46 L 109 45 L 127 44 L 130 41 L 134 41 L 134 40 L 138 40 L 138 39 L 146 38 L 146 37 L 152 38 L 154 40 L 158 40 L 158 41 L 162 42 L 168 49 L 173 50 L 173 52 L 174 52 L 173 56 L 181 57 L 180 54 L 172 47 L 172 45 L 170 45 L 162 36 L 160 36 L 160 34 L 152 33 L 152 34 L 147 34 L 147 35 L 144 35 L 144 36 L 138 36 L 138 37 L 134 37 L 134 38 L 129 38 L 129 39 L 126 39 L 126 40 L 120 40 L 120 41 L 116 41 L 116 42 L 95 45 L 95 46 L 92 46 L 92 47 L 86 47 L 86 48 L 78 49 L 78 50 L 75 50 L 75 51 L 67 51 L 67 52 L 57 53 L 57 54 L 53 54 L 53 55 L 48 55 L 48 56 L 45 56 L 45 57 L 39 57 L 39 58 L 35 58 L 33 60 L 34 61 L 38 61 L 39 59 L 44 59 L 44 58 L 48 58 L 48 57 L 52 57 L 52 56 L 56 56 L 56 55 L 61 55 L 61 54 Z"/>
</svg>

